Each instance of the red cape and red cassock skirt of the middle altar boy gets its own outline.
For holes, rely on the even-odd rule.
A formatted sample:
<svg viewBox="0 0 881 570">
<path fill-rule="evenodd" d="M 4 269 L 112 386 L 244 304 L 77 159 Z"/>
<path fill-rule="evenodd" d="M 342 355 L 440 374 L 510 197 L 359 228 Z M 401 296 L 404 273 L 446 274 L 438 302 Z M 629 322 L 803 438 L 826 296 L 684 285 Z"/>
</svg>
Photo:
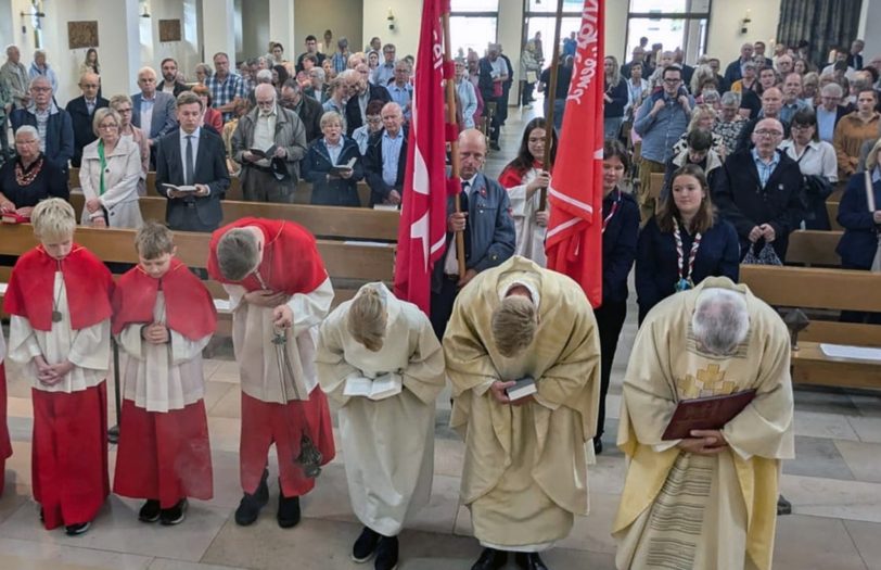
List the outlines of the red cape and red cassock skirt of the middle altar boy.
<svg viewBox="0 0 881 570">
<path fill-rule="evenodd" d="M 217 312 L 210 293 L 186 265 L 173 258 L 161 279 L 150 277 L 140 266 L 119 279 L 113 295 L 114 334 L 128 325 L 152 322 L 159 289 L 169 329 L 191 341 L 215 331 Z M 161 413 L 125 400 L 113 491 L 126 497 L 158 499 L 162 508 L 184 497 L 210 499 L 214 486 L 205 403 L 200 400 Z"/>
</svg>

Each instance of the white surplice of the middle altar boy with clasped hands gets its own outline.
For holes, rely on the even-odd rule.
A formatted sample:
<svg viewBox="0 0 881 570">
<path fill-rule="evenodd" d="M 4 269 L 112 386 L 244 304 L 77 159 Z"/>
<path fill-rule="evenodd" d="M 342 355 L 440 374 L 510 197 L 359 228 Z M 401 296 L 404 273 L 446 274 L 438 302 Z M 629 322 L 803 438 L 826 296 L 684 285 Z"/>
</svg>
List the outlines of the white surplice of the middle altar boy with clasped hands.
<svg viewBox="0 0 881 570">
<path fill-rule="evenodd" d="M 153 305 L 153 321 L 166 322 L 165 294 L 159 291 Z M 202 350 L 208 334 L 192 341 L 171 331 L 167 344 L 151 344 L 141 338 L 141 324 L 126 326 L 116 337 L 123 350 L 123 394 L 148 411 L 182 409 L 205 395 Z"/>
</svg>

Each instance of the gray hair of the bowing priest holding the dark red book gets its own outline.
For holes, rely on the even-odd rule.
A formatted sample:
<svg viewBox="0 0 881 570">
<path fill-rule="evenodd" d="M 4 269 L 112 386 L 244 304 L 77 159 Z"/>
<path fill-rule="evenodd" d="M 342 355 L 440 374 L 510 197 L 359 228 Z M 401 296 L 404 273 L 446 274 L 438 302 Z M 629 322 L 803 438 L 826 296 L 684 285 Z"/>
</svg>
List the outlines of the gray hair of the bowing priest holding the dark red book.
<svg viewBox="0 0 881 570">
<path fill-rule="evenodd" d="M 750 332 L 750 313 L 743 295 L 719 288 L 701 291 L 691 317 L 699 346 L 715 355 L 730 355 Z"/>
</svg>

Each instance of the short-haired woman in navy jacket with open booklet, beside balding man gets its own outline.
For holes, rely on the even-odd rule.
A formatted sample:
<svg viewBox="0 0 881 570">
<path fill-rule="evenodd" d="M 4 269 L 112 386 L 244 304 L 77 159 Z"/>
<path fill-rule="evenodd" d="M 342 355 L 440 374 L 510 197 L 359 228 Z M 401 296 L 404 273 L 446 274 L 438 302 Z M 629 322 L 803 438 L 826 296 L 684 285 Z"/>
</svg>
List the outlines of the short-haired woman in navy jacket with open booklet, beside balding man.
<svg viewBox="0 0 881 570">
<path fill-rule="evenodd" d="M 358 144 L 343 135 L 343 117 L 335 111 L 321 115 L 324 136 L 309 147 L 303 160 L 303 179 L 312 185 L 311 204 L 360 207 L 357 182 L 363 178 Z"/>
</svg>

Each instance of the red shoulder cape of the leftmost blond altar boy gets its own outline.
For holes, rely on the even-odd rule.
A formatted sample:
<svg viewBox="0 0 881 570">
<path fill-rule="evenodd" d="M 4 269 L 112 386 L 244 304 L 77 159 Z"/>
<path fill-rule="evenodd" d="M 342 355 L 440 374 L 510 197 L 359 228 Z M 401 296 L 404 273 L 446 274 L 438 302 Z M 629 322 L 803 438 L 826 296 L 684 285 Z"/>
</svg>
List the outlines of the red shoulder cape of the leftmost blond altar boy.
<svg viewBox="0 0 881 570">
<path fill-rule="evenodd" d="M 93 253 L 74 243 L 61 263 L 42 245 L 22 255 L 12 269 L 3 309 L 25 317 L 37 330 L 52 330 L 55 271 L 61 267 L 71 328 L 81 330 L 98 325 L 113 314 L 113 276 Z"/>
</svg>

